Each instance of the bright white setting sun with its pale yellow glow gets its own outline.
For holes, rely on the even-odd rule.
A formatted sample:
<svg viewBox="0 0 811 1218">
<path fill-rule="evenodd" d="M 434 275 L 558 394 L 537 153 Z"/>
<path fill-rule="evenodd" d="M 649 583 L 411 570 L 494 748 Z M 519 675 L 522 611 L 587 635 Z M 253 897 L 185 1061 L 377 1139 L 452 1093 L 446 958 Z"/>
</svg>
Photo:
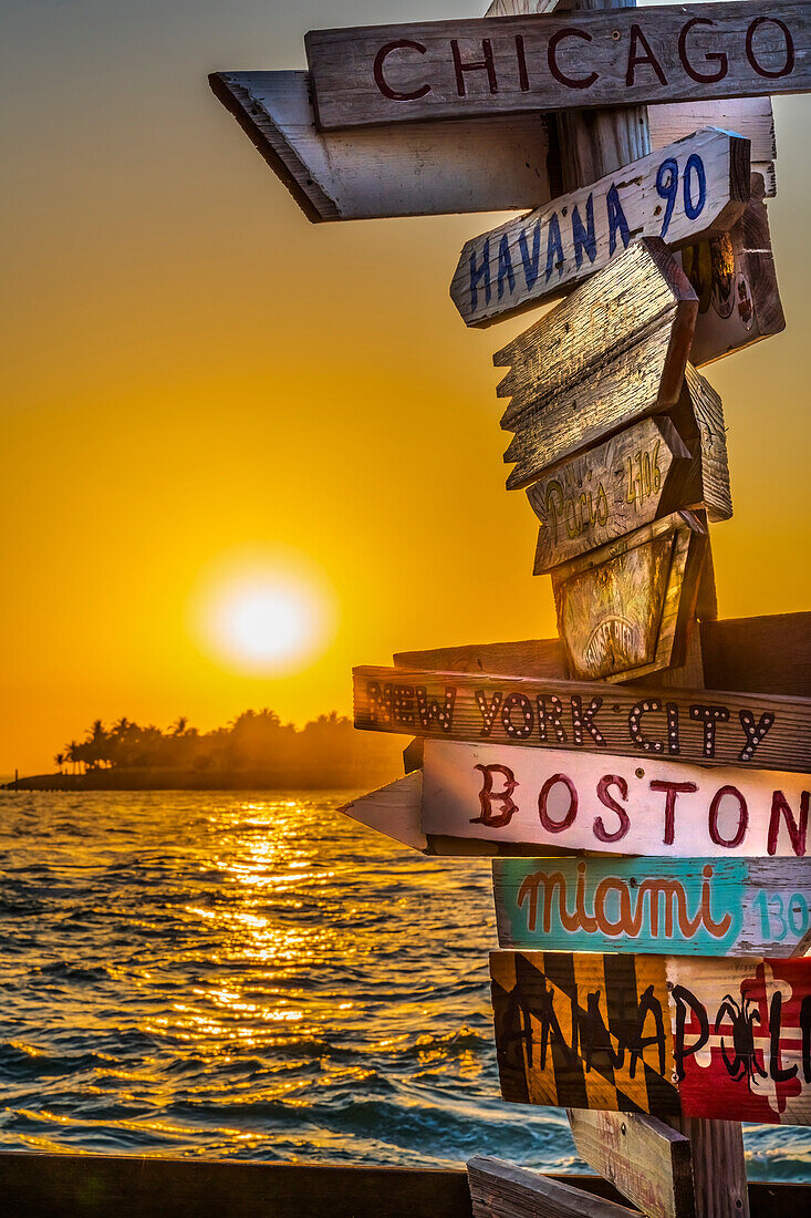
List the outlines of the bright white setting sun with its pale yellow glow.
<svg viewBox="0 0 811 1218">
<path fill-rule="evenodd" d="M 196 632 L 228 667 L 279 675 L 324 649 L 331 594 L 298 555 L 255 555 L 218 564 L 196 598 Z"/>
</svg>

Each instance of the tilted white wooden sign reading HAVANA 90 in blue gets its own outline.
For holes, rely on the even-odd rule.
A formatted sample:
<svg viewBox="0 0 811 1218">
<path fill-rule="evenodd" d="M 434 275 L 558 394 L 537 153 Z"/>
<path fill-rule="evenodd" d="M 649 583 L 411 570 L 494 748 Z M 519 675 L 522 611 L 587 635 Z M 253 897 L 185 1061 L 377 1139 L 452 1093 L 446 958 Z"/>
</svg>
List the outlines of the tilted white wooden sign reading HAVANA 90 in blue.
<svg viewBox="0 0 811 1218">
<path fill-rule="evenodd" d="M 707 129 L 468 241 L 451 296 L 487 325 L 587 279 L 641 236 L 678 247 L 732 228 L 749 202 L 749 141 Z"/>
</svg>

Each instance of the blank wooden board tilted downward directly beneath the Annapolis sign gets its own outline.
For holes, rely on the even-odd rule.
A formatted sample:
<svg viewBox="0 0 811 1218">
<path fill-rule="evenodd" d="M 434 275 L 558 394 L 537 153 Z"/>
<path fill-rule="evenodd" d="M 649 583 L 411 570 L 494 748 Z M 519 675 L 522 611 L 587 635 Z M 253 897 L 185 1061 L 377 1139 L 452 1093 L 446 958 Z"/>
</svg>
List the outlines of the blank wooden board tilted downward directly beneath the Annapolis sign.
<svg viewBox="0 0 811 1218">
<path fill-rule="evenodd" d="M 566 1111 L 580 1157 L 648 1218 L 694 1218 L 689 1139 L 658 1117 Z"/>
</svg>

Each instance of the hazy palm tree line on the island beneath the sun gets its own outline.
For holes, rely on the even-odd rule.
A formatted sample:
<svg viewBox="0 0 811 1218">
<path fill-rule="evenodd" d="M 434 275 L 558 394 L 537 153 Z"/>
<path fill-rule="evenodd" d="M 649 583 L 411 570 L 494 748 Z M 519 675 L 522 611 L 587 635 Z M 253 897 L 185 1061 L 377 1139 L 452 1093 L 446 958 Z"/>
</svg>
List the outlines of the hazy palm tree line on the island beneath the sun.
<svg viewBox="0 0 811 1218">
<path fill-rule="evenodd" d="M 246 710 L 212 732 L 200 732 L 184 716 L 166 731 L 152 723 L 141 727 L 125 716 L 110 727 L 96 719 L 84 741 L 71 741 L 54 760 L 62 775 L 157 769 L 201 776 L 255 771 L 324 777 L 370 766 L 387 769 L 398 750 L 402 741 L 357 732 L 349 719 L 335 711 L 319 715 L 300 731 L 265 706 Z"/>
</svg>

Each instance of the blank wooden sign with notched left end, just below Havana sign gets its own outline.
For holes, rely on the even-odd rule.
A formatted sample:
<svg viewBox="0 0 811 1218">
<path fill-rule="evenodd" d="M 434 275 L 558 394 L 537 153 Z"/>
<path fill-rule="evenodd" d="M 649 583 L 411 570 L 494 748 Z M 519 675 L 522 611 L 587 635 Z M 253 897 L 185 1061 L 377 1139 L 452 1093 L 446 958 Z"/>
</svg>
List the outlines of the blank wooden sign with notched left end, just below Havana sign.
<svg viewBox="0 0 811 1218">
<path fill-rule="evenodd" d="M 664 242 L 645 238 L 493 356 L 509 367 L 508 488 L 676 406 L 698 298 Z"/>
</svg>

